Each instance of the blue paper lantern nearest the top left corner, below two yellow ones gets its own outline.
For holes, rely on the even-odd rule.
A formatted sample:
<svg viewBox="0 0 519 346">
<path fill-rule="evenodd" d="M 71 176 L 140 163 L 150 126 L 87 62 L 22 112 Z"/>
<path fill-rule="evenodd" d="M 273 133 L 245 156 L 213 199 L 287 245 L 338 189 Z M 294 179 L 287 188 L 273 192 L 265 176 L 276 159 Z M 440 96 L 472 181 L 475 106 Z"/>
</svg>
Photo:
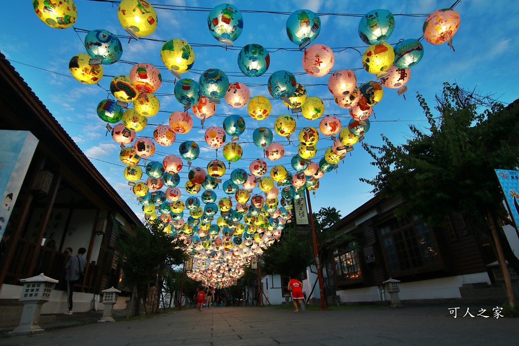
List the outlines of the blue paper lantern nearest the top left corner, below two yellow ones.
<svg viewBox="0 0 519 346">
<path fill-rule="evenodd" d="M 116 63 L 122 54 L 121 42 L 106 30 L 92 30 L 85 36 L 85 48 L 93 59 L 102 59 L 103 65 Z"/>
</svg>

